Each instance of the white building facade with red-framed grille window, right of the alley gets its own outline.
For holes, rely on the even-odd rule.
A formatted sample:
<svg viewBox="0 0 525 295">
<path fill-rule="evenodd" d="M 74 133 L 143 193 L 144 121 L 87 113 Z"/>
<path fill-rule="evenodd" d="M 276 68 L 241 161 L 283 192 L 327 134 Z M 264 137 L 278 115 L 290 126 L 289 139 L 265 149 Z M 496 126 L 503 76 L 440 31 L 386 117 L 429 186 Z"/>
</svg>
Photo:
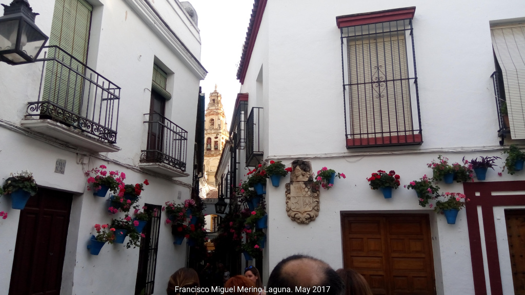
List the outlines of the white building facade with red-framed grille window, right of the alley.
<svg viewBox="0 0 525 295">
<path fill-rule="evenodd" d="M 265 281 L 282 258 L 303 253 L 334 269 L 358 270 L 374 294 L 514 294 L 521 288 L 513 257 L 524 248 L 507 226 L 523 215 L 525 176 L 497 172 L 507 145 L 525 143 L 523 104 L 509 100 L 524 98 L 513 92 L 525 81 L 516 53 L 523 50 L 524 11 L 523 2 L 511 0 L 475 8 L 255 1 L 237 76 L 232 143 L 217 182 L 237 186 L 246 180 L 245 167 L 270 160 L 287 166 L 306 160 L 314 173 L 328 167 L 346 175 L 329 191 L 321 189 L 319 215 L 309 224 L 288 217 L 282 181 L 279 187 L 268 182 L 267 244 L 262 261 L 255 261 Z M 493 82 L 497 75 L 503 75 L 500 84 Z M 510 131 L 499 115 L 502 92 L 513 109 Z M 438 155 L 459 163 L 503 158 L 485 181 L 439 183 L 442 193 L 470 198 L 455 225 L 403 188 L 431 177 L 427 163 Z M 401 176 L 391 199 L 370 189 L 366 178 L 377 170 Z"/>
</svg>

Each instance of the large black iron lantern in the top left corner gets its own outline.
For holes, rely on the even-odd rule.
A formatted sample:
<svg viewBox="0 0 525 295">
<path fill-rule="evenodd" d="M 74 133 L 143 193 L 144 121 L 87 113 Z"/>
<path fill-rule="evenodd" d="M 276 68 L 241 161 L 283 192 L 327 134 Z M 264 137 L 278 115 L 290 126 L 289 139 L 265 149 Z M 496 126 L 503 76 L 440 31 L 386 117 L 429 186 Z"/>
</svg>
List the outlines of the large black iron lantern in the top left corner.
<svg viewBox="0 0 525 295">
<path fill-rule="evenodd" d="M 4 6 L 0 17 L 0 60 L 9 65 L 34 62 L 48 37 L 35 25 L 34 13 L 27 0 L 13 0 Z"/>
</svg>

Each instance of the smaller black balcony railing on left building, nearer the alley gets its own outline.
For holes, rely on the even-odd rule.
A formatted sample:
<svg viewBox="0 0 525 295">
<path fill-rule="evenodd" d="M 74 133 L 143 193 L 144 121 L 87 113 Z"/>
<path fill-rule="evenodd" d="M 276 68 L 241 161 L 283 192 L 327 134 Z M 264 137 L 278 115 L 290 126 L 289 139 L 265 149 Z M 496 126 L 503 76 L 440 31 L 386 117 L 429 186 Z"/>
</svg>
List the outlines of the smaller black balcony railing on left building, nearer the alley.
<svg viewBox="0 0 525 295">
<path fill-rule="evenodd" d="M 145 114 L 148 145 L 142 150 L 142 163 L 164 163 L 186 171 L 188 132 L 158 113 Z"/>
</svg>

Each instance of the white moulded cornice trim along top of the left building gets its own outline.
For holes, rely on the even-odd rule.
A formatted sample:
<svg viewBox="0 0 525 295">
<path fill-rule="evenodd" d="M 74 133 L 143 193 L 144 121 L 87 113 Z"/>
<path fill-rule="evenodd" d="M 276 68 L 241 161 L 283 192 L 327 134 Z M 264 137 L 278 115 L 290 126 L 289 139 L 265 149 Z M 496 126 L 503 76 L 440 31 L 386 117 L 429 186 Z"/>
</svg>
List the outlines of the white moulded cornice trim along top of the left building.
<svg viewBox="0 0 525 295">
<path fill-rule="evenodd" d="M 143 20 L 143 22 L 150 27 L 150 29 L 157 35 L 173 52 L 180 58 L 186 66 L 194 73 L 196 77 L 204 80 L 206 77 L 206 69 L 193 56 L 177 36 L 173 35 L 171 31 L 162 24 L 153 10 L 142 0 L 125 0 L 125 2 L 133 8 L 135 13 Z"/>
</svg>

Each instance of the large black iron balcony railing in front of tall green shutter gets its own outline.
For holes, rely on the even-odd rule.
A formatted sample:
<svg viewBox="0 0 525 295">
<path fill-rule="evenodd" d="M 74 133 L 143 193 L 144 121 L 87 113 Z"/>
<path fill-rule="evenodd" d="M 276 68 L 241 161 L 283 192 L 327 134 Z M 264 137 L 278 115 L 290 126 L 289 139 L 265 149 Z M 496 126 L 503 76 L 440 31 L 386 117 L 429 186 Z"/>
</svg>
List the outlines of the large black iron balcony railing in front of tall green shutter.
<svg viewBox="0 0 525 295">
<path fill-rule="evenodd" d="M 46 46 L 38 101 L 28 102 L 26 118 L 51 119 L 117 142 L 120 87 L 58 46 Z"/>
</svg>

